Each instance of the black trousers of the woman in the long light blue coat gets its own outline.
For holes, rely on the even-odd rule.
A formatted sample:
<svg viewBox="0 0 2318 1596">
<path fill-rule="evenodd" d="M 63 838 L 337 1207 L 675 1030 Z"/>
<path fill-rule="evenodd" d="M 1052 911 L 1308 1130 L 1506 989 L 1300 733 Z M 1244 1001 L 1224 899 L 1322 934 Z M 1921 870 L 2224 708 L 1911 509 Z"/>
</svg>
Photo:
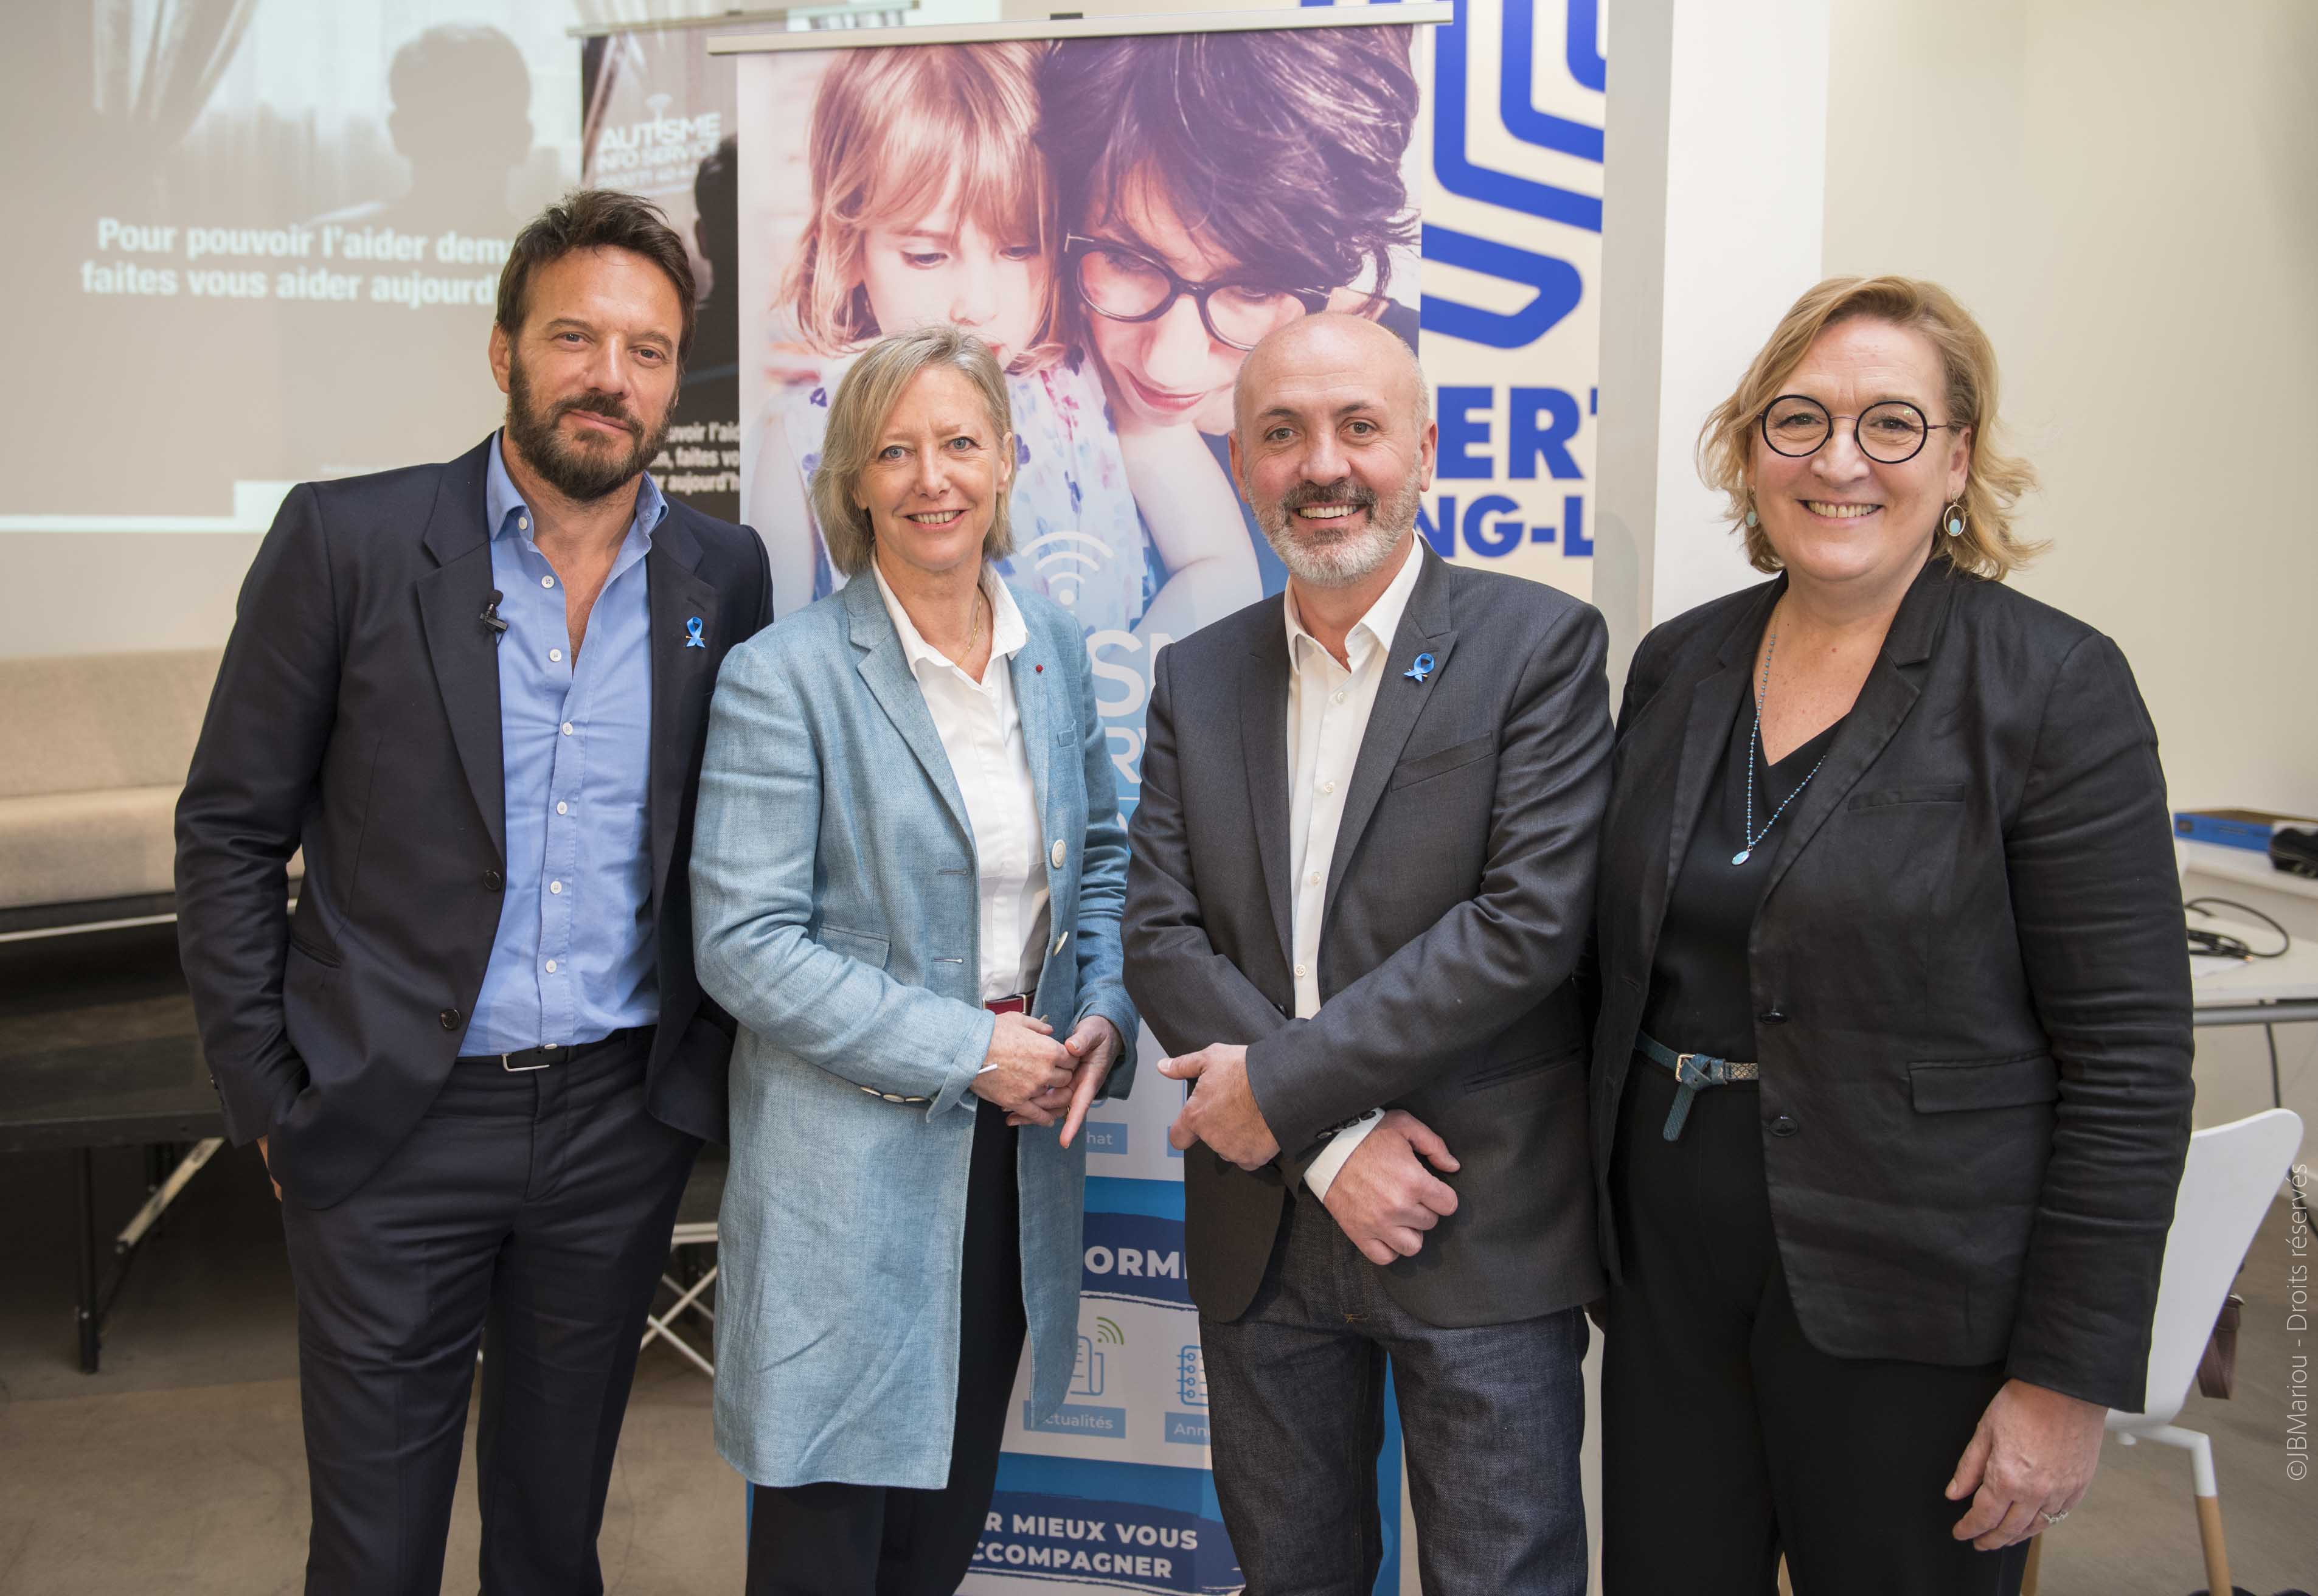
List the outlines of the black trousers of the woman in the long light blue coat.
<svg viewBox="0 0 2318 1596">
<path fill-rule="evenodd" d="M 974 1117 L 950 1480 L 749 1487 L 749 1596 L 950 1596 L 990 1510 L 1022 1362 L 1022 1188 L 1006 1112 Z"/>
</svg>

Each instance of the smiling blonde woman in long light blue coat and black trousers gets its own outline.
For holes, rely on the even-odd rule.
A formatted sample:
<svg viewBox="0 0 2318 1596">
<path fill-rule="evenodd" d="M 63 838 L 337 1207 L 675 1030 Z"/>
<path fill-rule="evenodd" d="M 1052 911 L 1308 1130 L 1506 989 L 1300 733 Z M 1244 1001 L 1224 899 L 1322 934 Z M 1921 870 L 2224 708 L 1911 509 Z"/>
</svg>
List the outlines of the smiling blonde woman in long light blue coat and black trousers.
<svg viewBox="0 0 2318 1596">
<path fill-rule="evenodd" d="M 700 984 L 739 1019 L 716 1448 L 749 1591 L 948 1594 L 1025 1334 L 1078 1341 L 1078 1126 L 1124 1096 L 1127 832 L 1078 623 L 1008 588 L 1006 378 L 867 350 L 814 512 L 851 581 L 732 649 L 693 834 Z"/>
</svg>

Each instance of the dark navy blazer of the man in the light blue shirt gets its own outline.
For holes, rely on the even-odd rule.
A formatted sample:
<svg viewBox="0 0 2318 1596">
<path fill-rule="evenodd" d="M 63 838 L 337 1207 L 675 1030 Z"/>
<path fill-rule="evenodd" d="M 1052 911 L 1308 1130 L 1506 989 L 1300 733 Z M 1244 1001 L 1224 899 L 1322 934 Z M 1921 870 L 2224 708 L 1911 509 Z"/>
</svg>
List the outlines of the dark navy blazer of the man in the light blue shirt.
<svg viewBox="0 0 2318 1596">
<path fill-rule="evenodd" d="M 440 1091 L 498 934 L 494 447 L 290 491 L 176 806 L 178 945 L 225 1123 L 234 1142 L 271 1135 L 274 1179 L 311 1207 L 366 1181 Z M 686 859 L 709 690 L 726 649 L 772 621 L 772 579 L 756 533 L 670 500 L 644 581 L 661 982 L 647 1105 L 723 1140 L 732 1019 L 693 975 Z M 299 845 L 306 883 L 283 915 Z"/>
</svg>

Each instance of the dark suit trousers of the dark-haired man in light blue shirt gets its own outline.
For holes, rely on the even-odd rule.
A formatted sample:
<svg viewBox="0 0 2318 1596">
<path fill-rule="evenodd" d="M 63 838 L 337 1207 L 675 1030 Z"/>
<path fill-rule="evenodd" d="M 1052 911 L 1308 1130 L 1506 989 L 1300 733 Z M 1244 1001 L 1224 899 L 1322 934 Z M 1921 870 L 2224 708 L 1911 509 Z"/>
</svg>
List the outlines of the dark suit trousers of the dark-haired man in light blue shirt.
<svg viewBox="0 0 2318 1596">
<path fill-rule="evenodd" d="M 313 1476 L 308 1596 L 438 1596 L 482 1344 L 489 1596 L 603 1591 L 596 1529 L 698 1137 L 644 1112 L 651 1031 L 457 1063 L 352 1198 L 283 1205 Z"/>
</svg>

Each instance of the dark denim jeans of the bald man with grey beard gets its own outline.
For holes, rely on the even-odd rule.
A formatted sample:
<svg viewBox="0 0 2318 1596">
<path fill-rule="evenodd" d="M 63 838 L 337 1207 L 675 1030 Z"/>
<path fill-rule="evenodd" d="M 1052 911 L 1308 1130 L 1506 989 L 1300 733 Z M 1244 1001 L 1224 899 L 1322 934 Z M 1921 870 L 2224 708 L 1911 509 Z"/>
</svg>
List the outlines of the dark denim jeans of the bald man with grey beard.
<svg viewBox="0 0 2318 1596">
<path fill-rule="evenodd" d="M 1247 1311 L 1201 1318 L 1215 1489 L 1247 1596 L 1368 1596 L 1384 1550 L 1384 1371 L 1439 1596 L 1583 1596 L 1586 1316 L 1444 1330 L 1296 1193 Z"/>
</svg>

